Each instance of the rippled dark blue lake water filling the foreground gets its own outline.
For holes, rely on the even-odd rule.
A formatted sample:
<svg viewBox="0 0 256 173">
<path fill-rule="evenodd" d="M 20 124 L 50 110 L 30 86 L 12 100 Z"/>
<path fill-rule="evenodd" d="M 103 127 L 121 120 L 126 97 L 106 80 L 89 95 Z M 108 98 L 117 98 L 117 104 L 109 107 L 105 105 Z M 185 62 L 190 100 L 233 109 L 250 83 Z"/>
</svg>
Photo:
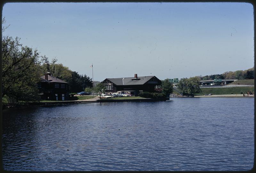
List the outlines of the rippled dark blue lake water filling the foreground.
<svg viewBox="0 0 256 173">
<path fill-rule="evenodd" d="M 249 170 L 254 98 L 3 110 L 5 170 Z"/>
</svg>

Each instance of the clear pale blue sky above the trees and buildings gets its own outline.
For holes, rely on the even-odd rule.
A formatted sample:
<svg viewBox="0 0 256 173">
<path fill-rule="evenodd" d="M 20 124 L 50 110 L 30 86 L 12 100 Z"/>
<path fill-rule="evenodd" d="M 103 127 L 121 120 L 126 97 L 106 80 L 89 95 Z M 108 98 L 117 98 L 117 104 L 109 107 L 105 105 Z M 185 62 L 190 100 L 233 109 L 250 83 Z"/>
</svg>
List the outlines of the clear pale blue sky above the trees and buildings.
<svg viewBox="0 0 256 173">
<path fill-rule="evenodd" d="M 249 3 L 7 3 L 9 28 L 50 59 L 96 81 L 183 78 L 254 63 Z"/>
</svg>

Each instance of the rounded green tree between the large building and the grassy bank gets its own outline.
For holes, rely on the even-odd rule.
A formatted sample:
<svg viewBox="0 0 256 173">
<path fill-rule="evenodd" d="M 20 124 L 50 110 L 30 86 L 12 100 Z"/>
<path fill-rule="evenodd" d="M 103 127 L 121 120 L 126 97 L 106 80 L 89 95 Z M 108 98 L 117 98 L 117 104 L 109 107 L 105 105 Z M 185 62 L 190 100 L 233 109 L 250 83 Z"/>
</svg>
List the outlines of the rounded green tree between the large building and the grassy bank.
<svg viewBox="0 0 256 173">
<path fill-rule="evenodd" d="M 183 93 L 194 95 L 200 92 L 199 83 L 200 83 L 200 78 L 197 76 L 190 77 L 190 78 L 182 78 L 179 81 L 178 88 Z"/>
</svg>

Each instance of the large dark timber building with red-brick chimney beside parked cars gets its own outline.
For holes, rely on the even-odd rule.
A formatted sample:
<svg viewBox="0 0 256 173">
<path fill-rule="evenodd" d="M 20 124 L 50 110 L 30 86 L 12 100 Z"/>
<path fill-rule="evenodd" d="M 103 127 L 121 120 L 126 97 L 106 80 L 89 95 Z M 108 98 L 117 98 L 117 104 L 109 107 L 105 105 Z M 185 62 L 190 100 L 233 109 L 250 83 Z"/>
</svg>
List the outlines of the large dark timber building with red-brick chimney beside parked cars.
<svg viewBox="0 0 256 173">
<path fill-rule="evenodd" d="M 161 88 L 161 80 L 156 76 L 137 76 L 122 78 L 106 78 L 102 81 L 106 86 L 106 93 L 129 93 L 138 96 L 140 92 L 154 92 Z"/>
</svg>

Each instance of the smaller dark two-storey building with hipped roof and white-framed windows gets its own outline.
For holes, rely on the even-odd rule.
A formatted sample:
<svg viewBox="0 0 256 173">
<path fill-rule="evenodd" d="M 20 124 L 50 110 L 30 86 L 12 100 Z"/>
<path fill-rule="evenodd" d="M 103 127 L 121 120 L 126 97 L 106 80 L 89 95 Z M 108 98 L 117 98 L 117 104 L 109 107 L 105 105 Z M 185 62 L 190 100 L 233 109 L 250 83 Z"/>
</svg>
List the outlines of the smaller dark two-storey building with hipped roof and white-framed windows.
<svg viewBox="0 0 256 173">
<path fill-rule="evenodd" d="M 52 76 L 50 72 L 40 77 L 37 88 L 44 100 L 68 100 L 68 83 Z"/>
</svg>

